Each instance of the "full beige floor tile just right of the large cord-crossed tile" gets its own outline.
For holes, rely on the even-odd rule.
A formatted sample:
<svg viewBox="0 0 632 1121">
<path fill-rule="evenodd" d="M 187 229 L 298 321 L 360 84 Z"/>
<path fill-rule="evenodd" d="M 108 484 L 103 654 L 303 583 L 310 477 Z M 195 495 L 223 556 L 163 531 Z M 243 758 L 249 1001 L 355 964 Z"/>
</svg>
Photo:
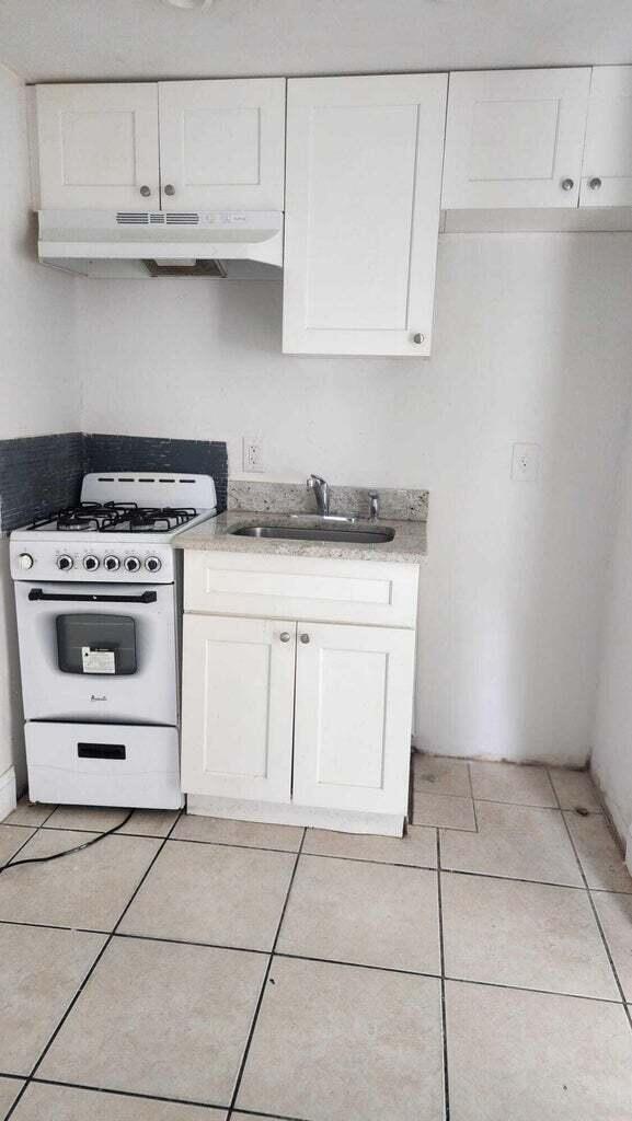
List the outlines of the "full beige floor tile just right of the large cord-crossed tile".
<svg viewBox="0 0 632 1121">
<path fill-rule="evenodd" d="M 272 949 L 294 853 L 167 841 L 120 930 Z"/>
</svg>

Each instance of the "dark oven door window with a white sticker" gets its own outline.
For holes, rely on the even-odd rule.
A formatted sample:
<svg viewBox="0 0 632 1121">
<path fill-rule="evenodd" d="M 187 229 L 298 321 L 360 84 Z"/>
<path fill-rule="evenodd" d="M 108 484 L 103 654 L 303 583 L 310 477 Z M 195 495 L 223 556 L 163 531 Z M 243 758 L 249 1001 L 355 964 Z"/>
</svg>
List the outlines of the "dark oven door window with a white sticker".
<svg viewBox="0 0 632 1121">
<path fill-rule="evenodd" d="M 136 619 L 98 612 L 57 615 L 57 661 L 64 674 L 135 674 Z"/>
</svg>

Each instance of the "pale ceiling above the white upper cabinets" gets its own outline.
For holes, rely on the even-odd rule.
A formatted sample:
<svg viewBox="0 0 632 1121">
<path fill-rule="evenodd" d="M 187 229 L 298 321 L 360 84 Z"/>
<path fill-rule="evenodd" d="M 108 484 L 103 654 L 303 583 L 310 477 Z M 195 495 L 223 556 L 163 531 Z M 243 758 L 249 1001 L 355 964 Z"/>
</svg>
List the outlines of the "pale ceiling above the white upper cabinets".
<svg viewBox="0 0 632 1121">
<path fill-rule="evenodd" d="M 631 0 L 0 0 L 27 81 L 632 62 Z"/>
</svg>

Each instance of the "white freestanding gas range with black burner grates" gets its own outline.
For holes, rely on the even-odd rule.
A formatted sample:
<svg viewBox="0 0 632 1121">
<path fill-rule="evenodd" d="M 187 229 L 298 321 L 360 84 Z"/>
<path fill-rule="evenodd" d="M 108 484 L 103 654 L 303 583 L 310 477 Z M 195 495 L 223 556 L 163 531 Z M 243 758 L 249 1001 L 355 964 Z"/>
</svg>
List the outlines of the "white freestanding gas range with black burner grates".
<svg viewBox="0 0 632 1121">
<path fill-rule="evenodd" d="M 11 534 L 33 802 L 176 808 L 177 534 L 209 475 L 85 475 L 80 506 Z"/>
</svg>

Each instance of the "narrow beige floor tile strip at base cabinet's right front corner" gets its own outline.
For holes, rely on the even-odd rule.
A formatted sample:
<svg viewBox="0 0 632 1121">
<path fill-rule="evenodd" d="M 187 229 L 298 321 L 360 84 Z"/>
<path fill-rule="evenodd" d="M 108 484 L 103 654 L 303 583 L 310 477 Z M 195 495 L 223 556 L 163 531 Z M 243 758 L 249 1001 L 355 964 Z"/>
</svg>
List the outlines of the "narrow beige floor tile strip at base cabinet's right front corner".
<svg viewBox="0 0 632 1121">
<path fill-rule="evenodd" d="M 304 853 L 313 856 L 344 856 L 372 860 L 378 864 L 437 868 L 437 834 L 422 825 L 409 825 L 403 837 L 378 837 L 363 833 L 308 830 Z"/>
</svg>

